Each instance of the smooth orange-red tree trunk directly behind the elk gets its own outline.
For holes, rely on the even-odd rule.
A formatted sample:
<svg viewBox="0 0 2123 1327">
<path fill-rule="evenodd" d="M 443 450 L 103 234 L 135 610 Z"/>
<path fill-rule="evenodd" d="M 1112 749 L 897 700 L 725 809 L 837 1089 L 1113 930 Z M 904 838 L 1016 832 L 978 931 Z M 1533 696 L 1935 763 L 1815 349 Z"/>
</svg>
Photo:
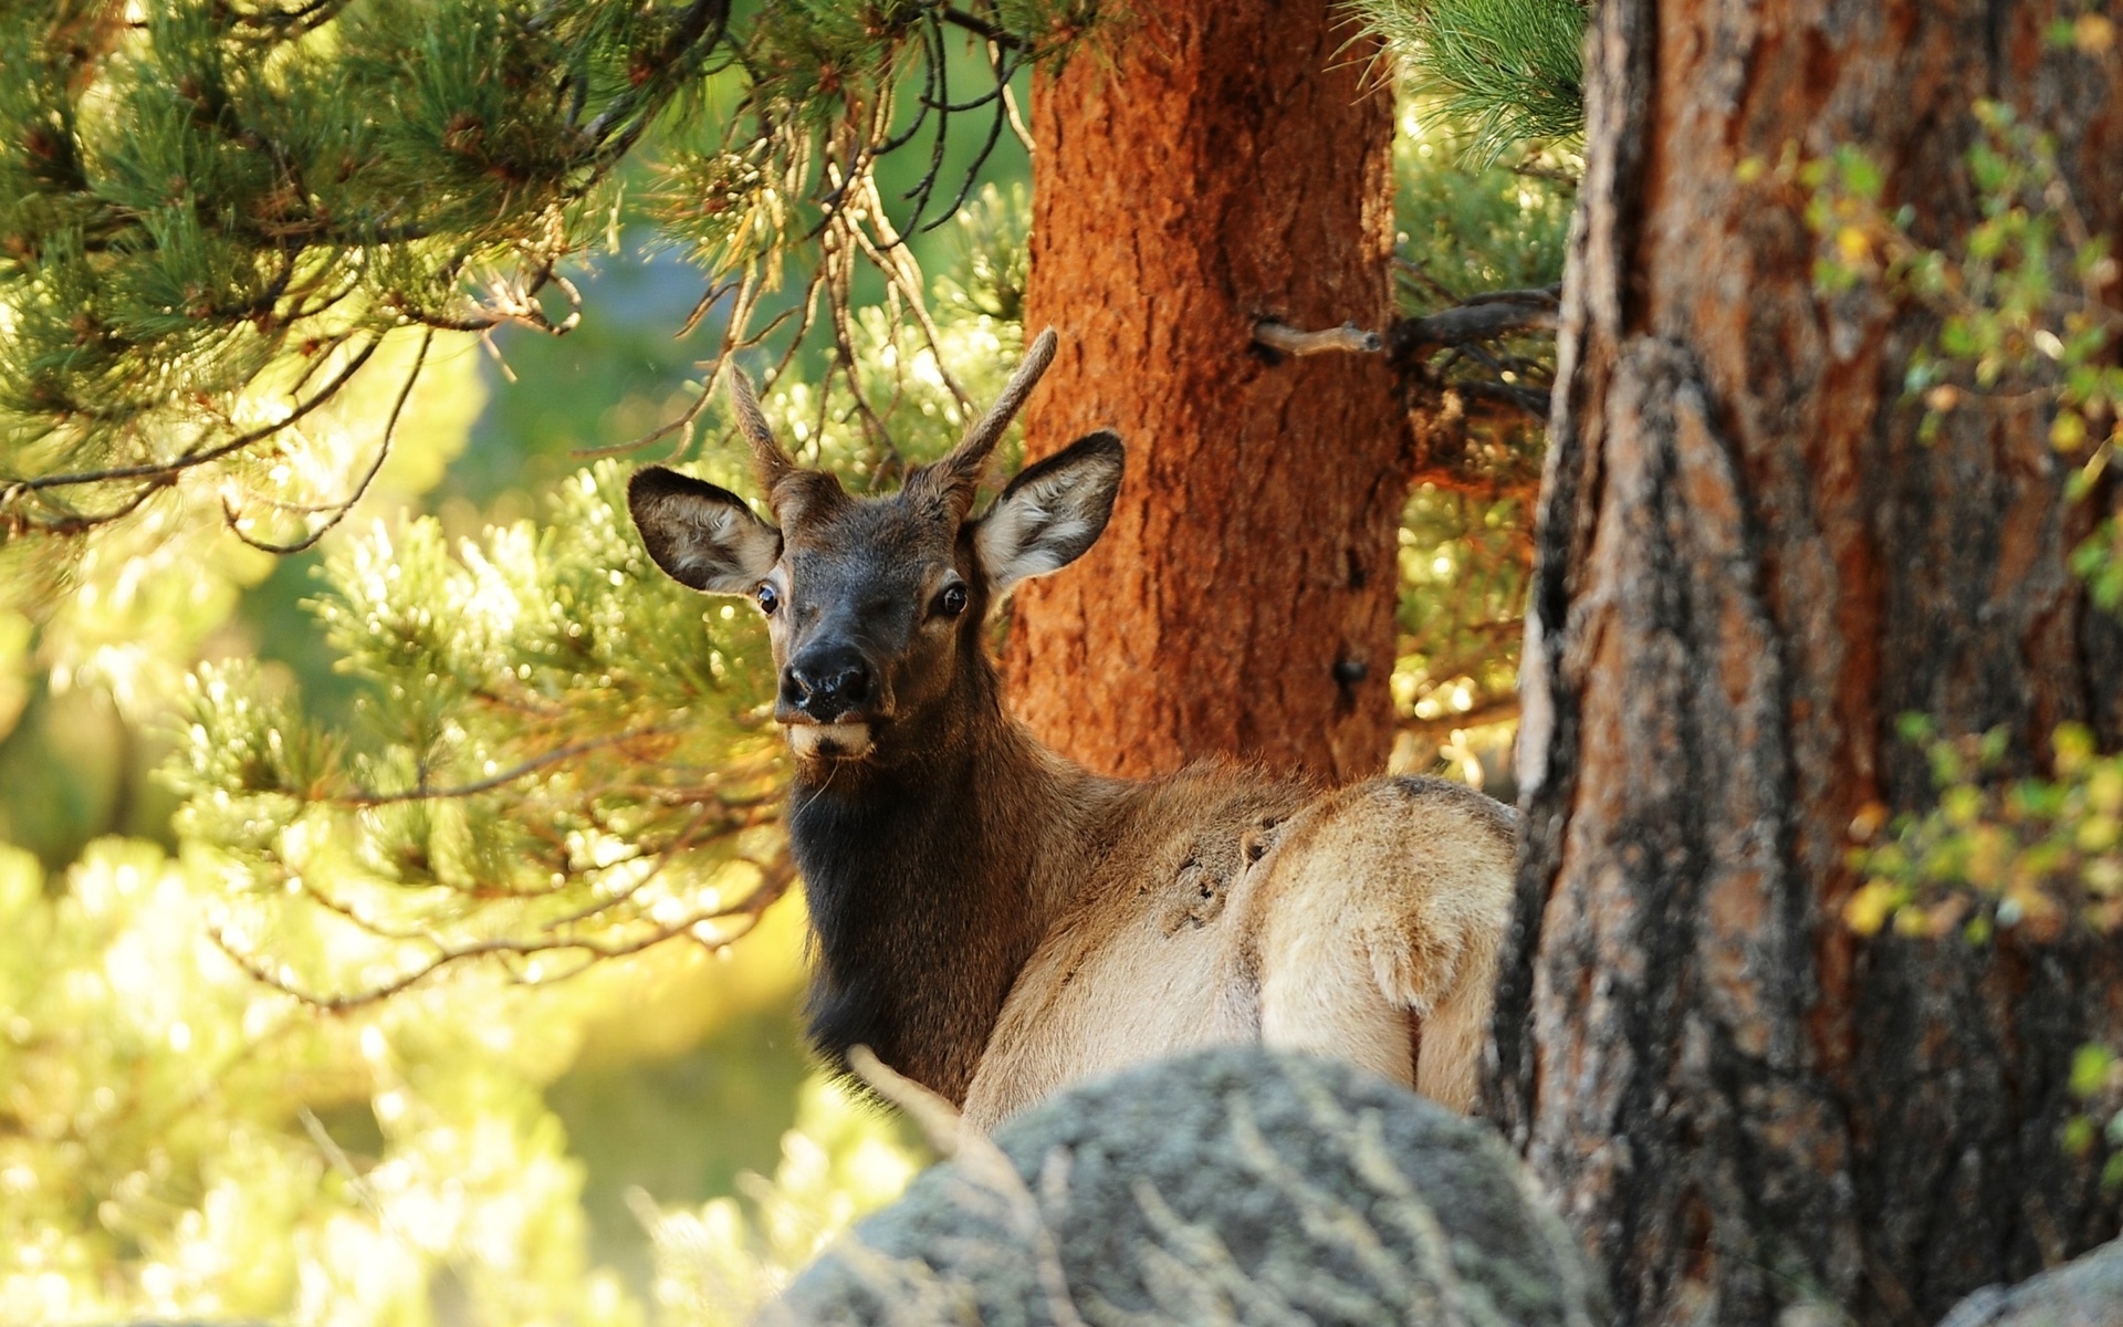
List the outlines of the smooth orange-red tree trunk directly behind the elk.
<svg viewBox="0 0 2123 1327">
<path fill-rule="evenodd" d="M 1142 8 L 1034 98 L 1028 456 L 1115 427 L 1098 548 L 1019 592 L 1006 667 L 1108 773 L 1208 752 L 1346 777 L 1393 741 L 1408 425 L 1382 355 L 1270 363 L 1253 323 L 1384 329 L 1393 96 L 1329 0 Z"/>
</svg>

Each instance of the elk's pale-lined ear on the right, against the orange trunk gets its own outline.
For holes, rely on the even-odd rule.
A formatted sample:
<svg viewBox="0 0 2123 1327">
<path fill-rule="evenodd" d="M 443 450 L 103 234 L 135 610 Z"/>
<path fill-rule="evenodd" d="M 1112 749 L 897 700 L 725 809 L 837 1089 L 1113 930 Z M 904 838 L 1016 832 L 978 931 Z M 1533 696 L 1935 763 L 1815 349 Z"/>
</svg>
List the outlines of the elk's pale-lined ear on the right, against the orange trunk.
<svg viewBox="0 0 2123 1327">
<path fill-rule="evenodd" d="M 1000 599 L 1025 578 L 1059 571 L 1098 541 L 1112 516 L 1125 456 L 1121 435 L 1102 429 L 1011 480 L 972 529 L 989 594 Z"/>
</svg>

